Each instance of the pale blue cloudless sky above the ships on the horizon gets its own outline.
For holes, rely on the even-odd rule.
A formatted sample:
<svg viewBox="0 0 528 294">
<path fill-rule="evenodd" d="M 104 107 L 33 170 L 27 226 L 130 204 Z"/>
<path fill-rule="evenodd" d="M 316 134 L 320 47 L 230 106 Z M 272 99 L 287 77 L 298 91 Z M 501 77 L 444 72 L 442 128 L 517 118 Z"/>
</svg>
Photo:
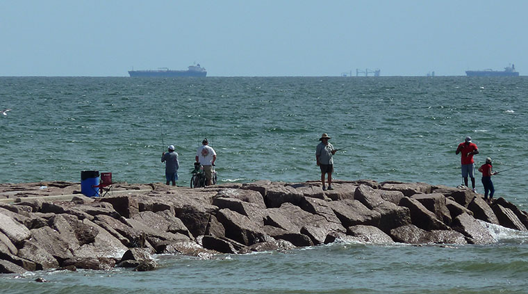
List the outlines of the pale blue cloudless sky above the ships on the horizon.
<svg viewBox="0 0 528 294">
<path fill-rule="evenodd" d="M 528 75 L 528 1 L 1 0 L 0 76 Z"/>
</svg>

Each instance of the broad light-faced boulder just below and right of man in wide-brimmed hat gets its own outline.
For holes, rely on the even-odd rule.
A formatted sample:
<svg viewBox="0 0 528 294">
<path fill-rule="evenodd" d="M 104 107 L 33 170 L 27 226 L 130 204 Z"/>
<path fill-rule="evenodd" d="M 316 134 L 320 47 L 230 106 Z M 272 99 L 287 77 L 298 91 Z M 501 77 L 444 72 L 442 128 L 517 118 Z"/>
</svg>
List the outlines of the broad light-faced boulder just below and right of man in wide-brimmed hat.
<svg viewBox="0 0 528 294">
<path fill-rule="evenodd" d="M 327 204 L 336 214 L 344 227 L 365 224 L 377 227 L 381 213 L 372 211 L 356 199 L 332 201 Z"/>
</svg>

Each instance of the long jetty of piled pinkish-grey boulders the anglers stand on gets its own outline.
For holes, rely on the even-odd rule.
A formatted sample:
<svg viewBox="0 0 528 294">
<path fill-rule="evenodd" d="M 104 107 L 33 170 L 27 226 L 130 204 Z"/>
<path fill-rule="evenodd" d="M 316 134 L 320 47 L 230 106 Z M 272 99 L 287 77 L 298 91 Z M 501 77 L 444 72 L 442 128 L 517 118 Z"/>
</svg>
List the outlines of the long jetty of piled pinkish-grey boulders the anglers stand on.
<svg viewBox="0 0 528 294">
<path fill-rule="evenodd" d="M 78 183 L 71 183 L 79 185 Z M 290 250 L 362 243 L 490 244 L 484 222 L 527 231 L 528 213 L 505 199 L 488 205 L 465 188 L 427 183 L 256 181 L 210 188 L 159 183 L 71 201 L 17 194 L 0 204 L 0 272 L 54 268 L 152 270 L 152 254 Z M 23 190 L 23 189 L 19 189 Z M 485 224 L 485 223 L 484 223 Z"/>
</svg>

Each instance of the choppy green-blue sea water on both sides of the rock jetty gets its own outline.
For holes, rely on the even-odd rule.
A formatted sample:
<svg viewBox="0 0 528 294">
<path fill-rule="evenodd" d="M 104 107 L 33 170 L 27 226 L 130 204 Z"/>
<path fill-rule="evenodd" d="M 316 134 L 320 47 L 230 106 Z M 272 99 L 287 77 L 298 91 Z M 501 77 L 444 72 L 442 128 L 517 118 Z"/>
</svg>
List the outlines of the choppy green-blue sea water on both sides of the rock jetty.
<svg viewBox="0 0 528 294">
<path fill-rule="evenodd" d="M 528 210 L 528 78 L 0 77 L 0 183 L 165 181 L 180 154 L 188 186 L 203 138 L 219 182 L 320 177 L 315 146 L 332 137 L 335 179 L 458 186 L 459 142 L 493 158 L 495 197 Z M 478 173 L 478 172 L 477 172 Z M 483 192 L 477 174 L 477 190 Z M 160 270 L 36 272 L 0 278 L 0 293 L 527 293 L 528 234 L 490 227 L 494 245 L 337 243 L 212 259 L 158 256 Z M 36 283 L 44 277 L 49 283 Z"/>
</svg>

